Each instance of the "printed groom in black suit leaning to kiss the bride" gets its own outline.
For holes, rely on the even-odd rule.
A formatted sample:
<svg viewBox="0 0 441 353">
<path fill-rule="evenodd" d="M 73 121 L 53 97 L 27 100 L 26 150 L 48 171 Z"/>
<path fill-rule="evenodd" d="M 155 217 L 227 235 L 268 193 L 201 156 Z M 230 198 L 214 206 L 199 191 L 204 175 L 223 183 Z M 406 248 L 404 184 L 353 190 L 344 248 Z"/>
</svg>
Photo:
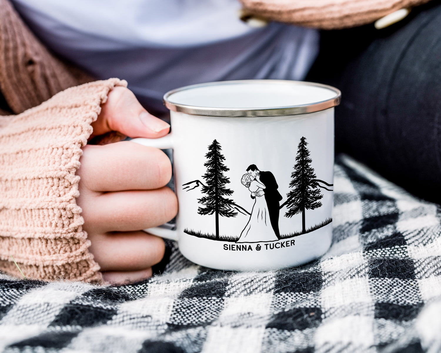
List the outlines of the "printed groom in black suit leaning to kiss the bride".
<svg viewBox="0 0 441 353">
<path fill-rule="evenodd" d="M 273 176 L 271 172 L 261 172 L 255 164 L 250 165 L 247 168 L 247 173 L 250 174 L 253 178 L 256 178 L 257 181 L 260 181 L 265 185 L 265 201 L 266 206 L 268 207 L 269 212 L 269 220 L 271 221 L 271 226 L 274 229 L 274 233 L 276 233 L 277 238 L 280 239 L 279 232 L 279 211 L 280 211 L 280 200 L 282 199 L 282 195 L 277 191 L 279 185 L 277 185 L 276 178 Z M 256 196 L 262 196 L 262 191 L 251 193 L 251 198 L 255 199 Z"/>
</svg>

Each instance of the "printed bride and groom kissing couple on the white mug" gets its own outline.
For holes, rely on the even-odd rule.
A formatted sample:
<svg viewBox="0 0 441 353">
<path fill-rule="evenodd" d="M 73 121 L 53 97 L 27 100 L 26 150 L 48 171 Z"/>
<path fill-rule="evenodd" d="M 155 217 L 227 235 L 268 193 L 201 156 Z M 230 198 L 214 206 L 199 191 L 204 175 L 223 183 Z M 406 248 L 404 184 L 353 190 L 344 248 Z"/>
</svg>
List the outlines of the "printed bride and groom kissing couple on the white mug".
<svg viewBox="0 0 441 353">
<path fill-rule="evenodd" d="M 240 234 L 238 243 L 272 241 L 280 238 L 279 211 L 282 195 L 277 191 L 276 178 L 271 172 L 261 172 L 254 164 L 242 176 L 242 184 L 254 199 L 250 219 Z"/>
</svg>

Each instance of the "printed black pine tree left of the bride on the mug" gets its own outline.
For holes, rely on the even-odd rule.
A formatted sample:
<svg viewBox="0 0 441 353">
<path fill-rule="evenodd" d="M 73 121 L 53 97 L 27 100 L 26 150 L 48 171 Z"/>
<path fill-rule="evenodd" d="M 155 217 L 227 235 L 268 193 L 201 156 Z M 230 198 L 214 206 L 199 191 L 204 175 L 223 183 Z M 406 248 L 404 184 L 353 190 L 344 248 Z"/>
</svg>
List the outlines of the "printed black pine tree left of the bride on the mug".
<svg viewBox="0 0 441 353">
<path fill-rule="evenodd" d="M 225 184 L 228 184 L 230 179 L 224 176 L 224 172 L 230 169 L 223 164 L 225 158 L 221 154 L 221 145 L 214 140 L 208 146 L 208 150 L 209 152 L 205 155 L 208 161 L 204 164 L 207 171 L 203 176 L 207 185 L 202 186 L 202 192 L 207 195 L 198 199 L 198 203 L 205 206 L 198 208 L 198 214 L 215 214 L 216 240 L 219 240 L 219 216 L 235 217 L 237 212 L 231 209 L 233 200 L 224 197 L 231 195 L 233 191 L 225 188 Z"/>
</svg>

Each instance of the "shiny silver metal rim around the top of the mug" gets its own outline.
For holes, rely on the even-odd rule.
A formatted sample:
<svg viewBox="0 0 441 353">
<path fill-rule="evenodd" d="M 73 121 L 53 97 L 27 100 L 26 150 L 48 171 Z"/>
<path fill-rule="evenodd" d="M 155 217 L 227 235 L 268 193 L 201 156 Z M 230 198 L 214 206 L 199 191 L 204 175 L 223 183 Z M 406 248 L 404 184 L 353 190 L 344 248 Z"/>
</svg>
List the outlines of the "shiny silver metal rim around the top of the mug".
<svg viewBox="0 0 441 353">
<path fill-rule="evenodd" d="M 231 85 L 231 84 L 243 84 L 243 83 L 268 83 L 268 84 L 291 84 L 299 86 L 316 86 L 326 88 L 335 92 L 336 96 L 325 101 L 318 101 L 303 105 L 289 105 L 285 107 L 269 107 L 269 108 L 211 108 L 211 107 L 198 107 L 194 105 L 179 104 L 170 101 L 168 98 L 183 90 L 191 90 L 197 87 L 206 87 L 214 85 Z M 319 112 L 321 110 L 329 109 L 340 104 L 341 92 L 333 86 L 322 85 L 321 83 L 303 82 L 303 81 L 288 81 L 288 80 L 237 80 L 237 81 L 221 81 L 200 83 L 197 85 L 185 86 L 177 88 L 176 90 L 168 91 L 164 94 L 164 105 L 173 112 L 186 113 L 190 115 L 203 115 L 203 116 L 230 116 L 230 117 L 249 117 L 249 116 L 285 116 L 285 115 L 297 115 Z"/>
</svg>

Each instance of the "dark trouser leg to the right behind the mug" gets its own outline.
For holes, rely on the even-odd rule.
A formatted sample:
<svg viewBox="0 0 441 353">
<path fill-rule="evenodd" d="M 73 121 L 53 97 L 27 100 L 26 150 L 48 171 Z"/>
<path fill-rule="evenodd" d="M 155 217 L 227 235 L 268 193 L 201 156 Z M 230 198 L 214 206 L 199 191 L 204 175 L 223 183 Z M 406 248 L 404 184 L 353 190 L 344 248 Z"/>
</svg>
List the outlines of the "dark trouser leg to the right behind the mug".
<svg viewBox="0 0 441 353">
<path fill-rule="evenodd" d="M 441 203 L 441 1 L 383 30 L 323 31 L 307 80 L 342 91 L 337 152 Z"/>
</svg>

